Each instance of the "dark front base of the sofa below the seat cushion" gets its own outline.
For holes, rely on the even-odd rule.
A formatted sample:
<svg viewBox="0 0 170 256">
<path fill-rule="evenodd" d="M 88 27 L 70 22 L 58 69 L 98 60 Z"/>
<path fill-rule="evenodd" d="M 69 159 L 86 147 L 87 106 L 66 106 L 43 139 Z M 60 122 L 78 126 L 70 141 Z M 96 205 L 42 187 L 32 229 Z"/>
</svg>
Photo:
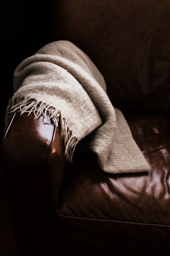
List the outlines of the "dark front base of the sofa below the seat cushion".
<svg viewBox="0 0 170 256">
<path fill-rule="evenodd" d="M 98 225 L 98 227 L 100 227 Z M 116 229 L 117 232 L 117 229 Z M 133 232 L 133 229 L 132 229 Z M 129 241 L 112 240 L 95 236 L 86 236 L 60 230 L 61 254 L 74 256 L 82 255 L 116 255 L 116 256 L 143 256 L 143 255 L 168 255 L 168 245 L 135 243 Z M 65 245 L 67 241 L 67 246 Z M 70 253 L 71 252 L 71 253 Z"/>
</svg>

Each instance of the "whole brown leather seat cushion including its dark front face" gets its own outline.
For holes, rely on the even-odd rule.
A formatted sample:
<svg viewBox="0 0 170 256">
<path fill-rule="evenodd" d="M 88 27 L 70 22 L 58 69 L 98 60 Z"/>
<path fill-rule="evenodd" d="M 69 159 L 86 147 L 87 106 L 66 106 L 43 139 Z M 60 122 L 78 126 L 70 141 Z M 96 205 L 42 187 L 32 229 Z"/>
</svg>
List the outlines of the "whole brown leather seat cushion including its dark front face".
<svg viewBox="0 0 170 256">
<path fill-rule="evenodd" d="M 56 203 L 58 232 L 170 245 L 170 118 L 124 113 L 150 172 L 110 174 L 74 152 Z"/>
</svg>

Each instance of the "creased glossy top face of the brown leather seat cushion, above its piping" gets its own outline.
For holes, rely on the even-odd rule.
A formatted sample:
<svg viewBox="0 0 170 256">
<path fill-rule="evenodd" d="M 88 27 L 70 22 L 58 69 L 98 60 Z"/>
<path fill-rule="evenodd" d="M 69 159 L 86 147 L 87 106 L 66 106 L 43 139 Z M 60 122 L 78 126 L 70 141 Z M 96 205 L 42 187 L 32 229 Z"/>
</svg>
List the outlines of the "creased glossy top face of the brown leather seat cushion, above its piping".
<svg viewBox="0 0 170 256">
<path fill-rule="evenodd" d="M 76 151 L 62 183 L 58 212 L 72 217 L 170 225 L 169 118 L 136 114 L 125 117 L 151 171 L 105 173 L 92 153 L 86 152 L 84 157 Z"/>
</svg>

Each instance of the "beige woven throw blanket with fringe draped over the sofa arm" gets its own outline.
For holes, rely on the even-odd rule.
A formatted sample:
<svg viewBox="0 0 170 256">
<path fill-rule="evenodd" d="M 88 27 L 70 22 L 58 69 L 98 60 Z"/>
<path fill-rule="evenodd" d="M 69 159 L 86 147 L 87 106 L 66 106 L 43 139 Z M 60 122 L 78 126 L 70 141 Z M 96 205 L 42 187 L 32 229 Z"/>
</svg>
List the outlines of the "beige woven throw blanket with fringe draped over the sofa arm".
<svg viewBox="0 0 170 256">
<path fill-rule="evenodd" d="M 68 161 L 78 143 L 97 154 L 105 172 L 149 171 L 122 112 L 106 94 L 103 76 L 73 43 L 52 42 L 22 61 L 14 73 L 14 90 L 6 126 L 13 112 L 34 112 L 35 118 L 43 115 L 60 125 Z"/>
</svg>

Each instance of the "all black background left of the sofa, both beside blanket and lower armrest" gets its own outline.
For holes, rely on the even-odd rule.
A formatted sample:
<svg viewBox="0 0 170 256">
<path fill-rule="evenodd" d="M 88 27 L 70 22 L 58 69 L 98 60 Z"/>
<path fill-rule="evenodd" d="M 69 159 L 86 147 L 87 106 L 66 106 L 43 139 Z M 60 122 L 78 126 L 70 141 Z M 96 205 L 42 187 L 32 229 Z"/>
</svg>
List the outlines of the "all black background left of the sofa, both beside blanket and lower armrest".
<svg viewBox="0 0 170 256">
<path fill-rule="evenodd" d="M 15 1 L 1 4 L 0 140 L 5 110 L 13 95 L 13 73 L 19 63 L 52 41 L 53 0 Z M 15 150 L 15 148 L 14 148 Z M 8 208 L 7 185 L 0 167 L 0 255 L 18 256 Z"/>
</svg>

